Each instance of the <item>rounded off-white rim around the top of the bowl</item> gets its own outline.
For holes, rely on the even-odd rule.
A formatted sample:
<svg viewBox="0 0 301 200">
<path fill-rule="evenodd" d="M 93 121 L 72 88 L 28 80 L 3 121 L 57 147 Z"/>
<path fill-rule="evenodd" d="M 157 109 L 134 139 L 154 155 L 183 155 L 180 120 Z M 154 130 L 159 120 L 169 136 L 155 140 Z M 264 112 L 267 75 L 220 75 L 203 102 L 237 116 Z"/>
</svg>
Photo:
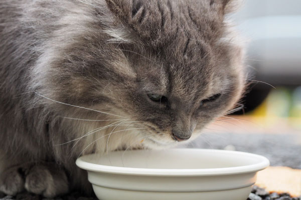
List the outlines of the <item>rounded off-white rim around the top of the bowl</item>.
<svg viewBox="0 0 301 200">
<path fill-rule="evenodd" d="M 127 175 L 157 175 L 157 176 L 210 176 L 210 175 L 231 175 L 248 172 L 256 172 L 269 166 L 269 160 L 258 154 L 220 150 L 220 149 L 202 149 L 202 148 L 173 148 L 168 150 L 181 150 L 181 151 L 207 151 L 207 152 L 223 152 L 231 154 L 239 154 L 251 156 L 260 160 L 258 163 L 249 164 L 244 166 L 233 166 L 223 168 L 203 168 L 203 169 L 162 169 L 162 168 L 134 168 L 123 166 L 109 166 L 102 164 L 95 164 L 84 160 L 85 157 L 95 156 L 96 153 L 83 155 L 76 160 L 76 165 L 82 169 L 94 172 L 105 172 L 113 174 L 127 174 Z"/>
</svg>

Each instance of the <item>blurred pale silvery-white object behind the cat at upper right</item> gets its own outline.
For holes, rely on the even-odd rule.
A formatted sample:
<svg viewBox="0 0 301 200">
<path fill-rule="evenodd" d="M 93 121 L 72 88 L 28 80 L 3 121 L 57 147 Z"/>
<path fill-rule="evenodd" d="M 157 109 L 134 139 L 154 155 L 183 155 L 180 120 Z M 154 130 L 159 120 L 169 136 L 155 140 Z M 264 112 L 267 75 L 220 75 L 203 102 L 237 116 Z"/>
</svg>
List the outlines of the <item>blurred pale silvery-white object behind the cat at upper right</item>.
<svg viewBox="0 0 301 200">
<path fill-rule="evenodd" d="M 301 1 L 244 0 L 233 15 L 249 38 L 247 64 L 270 84 L 301 83 Z"/>
</svg>

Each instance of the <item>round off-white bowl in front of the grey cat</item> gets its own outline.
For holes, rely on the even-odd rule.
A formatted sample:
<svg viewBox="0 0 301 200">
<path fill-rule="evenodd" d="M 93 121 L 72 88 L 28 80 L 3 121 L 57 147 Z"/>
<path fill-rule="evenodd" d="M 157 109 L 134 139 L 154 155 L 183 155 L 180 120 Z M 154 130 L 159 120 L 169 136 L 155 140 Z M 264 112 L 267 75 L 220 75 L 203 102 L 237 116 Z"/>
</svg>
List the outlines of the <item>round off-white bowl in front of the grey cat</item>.
<svg viewBox="0 0 301 200">
<path fill-rule="evenodd" d="M 102 200 L 246 200 L 256 172 L 269 165 L 261 155 L 228 150 L 127 150 L 108 155 L 76 160 L 88 170 Z"/>
</svg>

